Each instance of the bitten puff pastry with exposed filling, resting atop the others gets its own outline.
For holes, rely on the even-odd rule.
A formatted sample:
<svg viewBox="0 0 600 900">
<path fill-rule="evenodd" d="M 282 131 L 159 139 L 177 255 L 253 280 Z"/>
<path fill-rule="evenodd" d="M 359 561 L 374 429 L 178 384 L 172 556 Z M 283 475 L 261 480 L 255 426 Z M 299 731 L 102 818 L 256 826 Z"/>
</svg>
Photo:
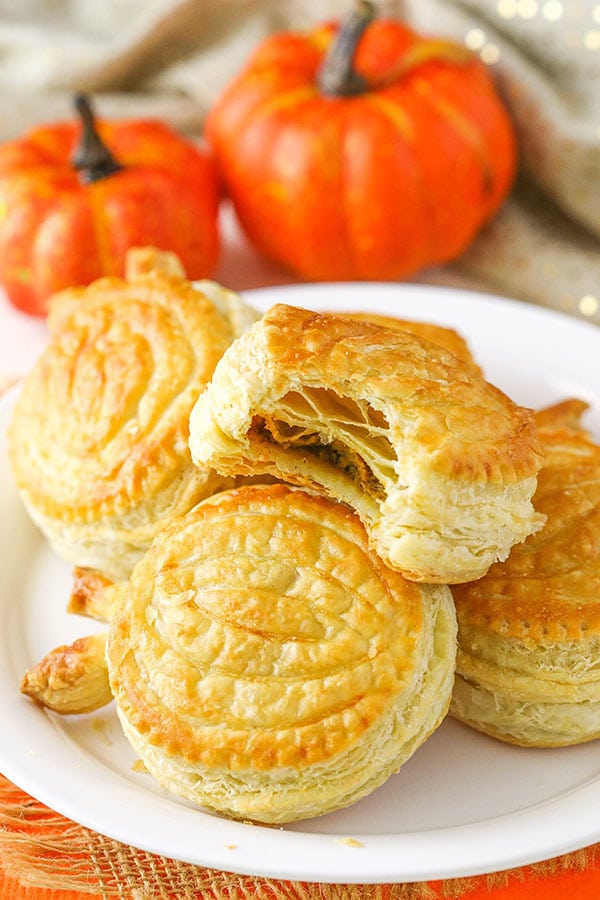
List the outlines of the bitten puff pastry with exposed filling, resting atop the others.
<svg viewBox="0 0 600 900">
<path fill-rule="evenodd" d="M 352 506 L 407 578 L 478 578 L 541 524 L 533 413 L 442 347 L 282 304 L 224 354 L 190 418 L 200 466 Z"/>
</svg>

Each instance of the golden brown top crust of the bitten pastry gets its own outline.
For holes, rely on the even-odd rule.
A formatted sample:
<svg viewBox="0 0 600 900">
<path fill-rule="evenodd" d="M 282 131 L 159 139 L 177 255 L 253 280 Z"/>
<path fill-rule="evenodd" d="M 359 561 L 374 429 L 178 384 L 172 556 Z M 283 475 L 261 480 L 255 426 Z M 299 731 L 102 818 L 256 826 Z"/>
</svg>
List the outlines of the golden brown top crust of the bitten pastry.
<svg viewBox="0 0 600 900">
<path fill-rule="evenodd" d="M 265 313 L 261 327 L 275 384 L 302 372 L 325 388 L 343 384 L 350 395 L 358 389 L 381 401 L 392 429 L 394 411 L 410 404 L 437 471 L 492 483 L 538 471 L 533 412 L 443 348 L 406 331 L 390 334 L 369 322 L 283 305 Z M 466 454 L 467 444 L 479 452 Z"/>
</svg>

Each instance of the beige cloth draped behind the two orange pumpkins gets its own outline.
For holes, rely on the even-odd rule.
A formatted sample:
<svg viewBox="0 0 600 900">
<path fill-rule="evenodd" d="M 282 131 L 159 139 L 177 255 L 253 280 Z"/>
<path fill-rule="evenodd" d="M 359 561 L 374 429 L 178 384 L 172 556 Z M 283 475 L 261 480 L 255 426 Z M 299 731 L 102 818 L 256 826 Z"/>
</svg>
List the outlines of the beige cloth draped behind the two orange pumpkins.
<svg viewBox="0 0 600 900">
<path fill-rule="evenodd" d="M 158 115 L 198 135 L 253 46 L 351 0 L 0 0 L 0 140 L 71 115 Z M 382 0 L 479 53 L 518 131 L 522 174 L 455 266 L 490 290 L 600 322 L 600 2 Z"/>
</svg>

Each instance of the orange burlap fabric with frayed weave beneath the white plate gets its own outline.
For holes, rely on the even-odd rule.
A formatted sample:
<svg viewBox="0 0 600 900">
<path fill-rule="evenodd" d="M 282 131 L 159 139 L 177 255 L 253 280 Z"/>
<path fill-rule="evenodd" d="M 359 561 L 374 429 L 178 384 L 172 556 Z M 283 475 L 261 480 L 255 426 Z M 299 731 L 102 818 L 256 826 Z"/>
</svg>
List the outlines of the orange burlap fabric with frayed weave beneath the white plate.
<svg viewBox="0 0 600 900">
<path fill-rule="evenodd" d="M 328 885 L 164 859 L 65 819 L 0 776 L 0 900 L 598 900 L 600 844 L 536 865 L 415 884 Z"/>
</svg>

